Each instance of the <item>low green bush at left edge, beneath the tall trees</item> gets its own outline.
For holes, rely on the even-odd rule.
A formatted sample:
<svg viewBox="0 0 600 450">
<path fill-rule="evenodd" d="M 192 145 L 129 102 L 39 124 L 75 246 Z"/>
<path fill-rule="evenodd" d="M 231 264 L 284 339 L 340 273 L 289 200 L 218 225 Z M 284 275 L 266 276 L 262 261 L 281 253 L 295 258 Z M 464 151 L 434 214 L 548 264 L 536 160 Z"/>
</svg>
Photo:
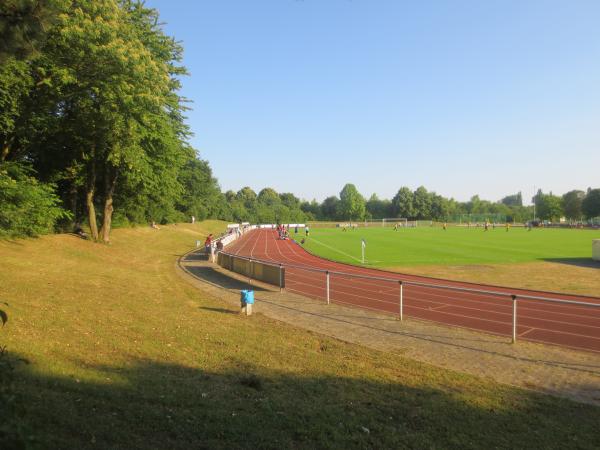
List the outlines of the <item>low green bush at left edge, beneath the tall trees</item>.
<svg viewBox="0 0 600 450">
<path fill-rule="evenodd" d="M 0 164 L 0 238 L 54 231 L 58 220 L 71 216 L 60 204 L 54 186 L 36 180 L 28 167 Z"/>
</svg>

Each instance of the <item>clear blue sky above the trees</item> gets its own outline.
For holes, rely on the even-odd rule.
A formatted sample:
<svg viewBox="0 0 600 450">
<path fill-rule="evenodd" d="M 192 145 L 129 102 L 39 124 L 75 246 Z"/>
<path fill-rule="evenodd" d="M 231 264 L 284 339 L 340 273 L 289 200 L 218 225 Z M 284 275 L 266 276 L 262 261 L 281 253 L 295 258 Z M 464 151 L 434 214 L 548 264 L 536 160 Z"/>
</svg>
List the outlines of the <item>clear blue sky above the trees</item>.
<svg viewBox="0 0 600 450">
<path fill-rule="evenodd" d="M 148 0 L 223 190 L 600 187 L 600 1 Z"/>
</svg>

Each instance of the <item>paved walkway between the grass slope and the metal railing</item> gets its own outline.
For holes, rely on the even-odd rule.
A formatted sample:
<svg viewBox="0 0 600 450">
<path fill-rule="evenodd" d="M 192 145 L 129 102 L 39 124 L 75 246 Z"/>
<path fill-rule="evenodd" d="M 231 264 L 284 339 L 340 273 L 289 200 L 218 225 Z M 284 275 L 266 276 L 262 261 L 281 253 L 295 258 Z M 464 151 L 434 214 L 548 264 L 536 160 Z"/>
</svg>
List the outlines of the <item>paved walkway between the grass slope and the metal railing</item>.
<svg viewBox="0 0 600 450">
<path fill-rule="evenodd" d="M 199 289 L 239 308 L 239 291 L 254 289 L 254 312 L 346 342 L 402 355 L 459 372 L 491 378 L 600 405 L 600 354 L 518 342 L 502 336 L 327 305 L 229 272 L 196 252 L 181 257 L 179 273 Z"/>
</svg>

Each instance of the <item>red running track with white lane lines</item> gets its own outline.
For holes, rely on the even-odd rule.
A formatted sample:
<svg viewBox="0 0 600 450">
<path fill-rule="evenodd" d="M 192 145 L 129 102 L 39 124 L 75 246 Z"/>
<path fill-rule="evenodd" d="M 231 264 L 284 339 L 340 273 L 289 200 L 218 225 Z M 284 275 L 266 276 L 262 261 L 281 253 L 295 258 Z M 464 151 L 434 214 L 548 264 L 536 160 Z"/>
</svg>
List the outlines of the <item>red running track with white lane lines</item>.
<svg viewBox="0 0 600 450">
<path fill-rule="evenodd" d="M 411 284 L 403 286 L 404 315 L 503 336 L 512 336 L 510 294 L 516 294 L 518 340 L 600 352 L 600 307 L 550 303 L 518 296 L 600 305 L 598 297 L 454 282 L 337 263 L 308 253 L 294 241 L 279 240 L 275 231 L 266 229 L 247 233 L 227 247 L 227 253 L 293 265 L 295 267 L 286 266 L 285 269 L 286 289 L 319 299 L 326 298 L 326 275 L 314 269 L 343 272 L 330 273 L 330 301 L 378 312 L 399 314 L 400 280 L 506 293 L 498 296 Z M 358 278 L 358 275 L 392 281 Z"/>
</svg>

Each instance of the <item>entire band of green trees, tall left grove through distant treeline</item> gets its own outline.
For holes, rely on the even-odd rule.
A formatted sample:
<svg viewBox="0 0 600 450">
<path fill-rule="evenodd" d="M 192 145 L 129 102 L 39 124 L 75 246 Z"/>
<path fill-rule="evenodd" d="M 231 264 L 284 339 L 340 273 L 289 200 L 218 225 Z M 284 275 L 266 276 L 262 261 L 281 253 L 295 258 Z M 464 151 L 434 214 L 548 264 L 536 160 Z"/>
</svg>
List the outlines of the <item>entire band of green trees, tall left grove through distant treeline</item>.
<svg viewBox="0 0 600 450">
<path fill-rule="evenodd" d="M 533 217 L 520 193 L 489 202 L 402 187 L 366 200 L 352 184 L 322 203 L 249 187 L 222 193 L 190 146 L 182 47 L 135 0 L 0 3 L 0 237 L 87 224 L 220 218 L 250 222 Z M 535 216 L 600 216 L 600 189 L 539 191 Z M 479 219 L 483 220 L 483 219 Z"/>
</svg>

